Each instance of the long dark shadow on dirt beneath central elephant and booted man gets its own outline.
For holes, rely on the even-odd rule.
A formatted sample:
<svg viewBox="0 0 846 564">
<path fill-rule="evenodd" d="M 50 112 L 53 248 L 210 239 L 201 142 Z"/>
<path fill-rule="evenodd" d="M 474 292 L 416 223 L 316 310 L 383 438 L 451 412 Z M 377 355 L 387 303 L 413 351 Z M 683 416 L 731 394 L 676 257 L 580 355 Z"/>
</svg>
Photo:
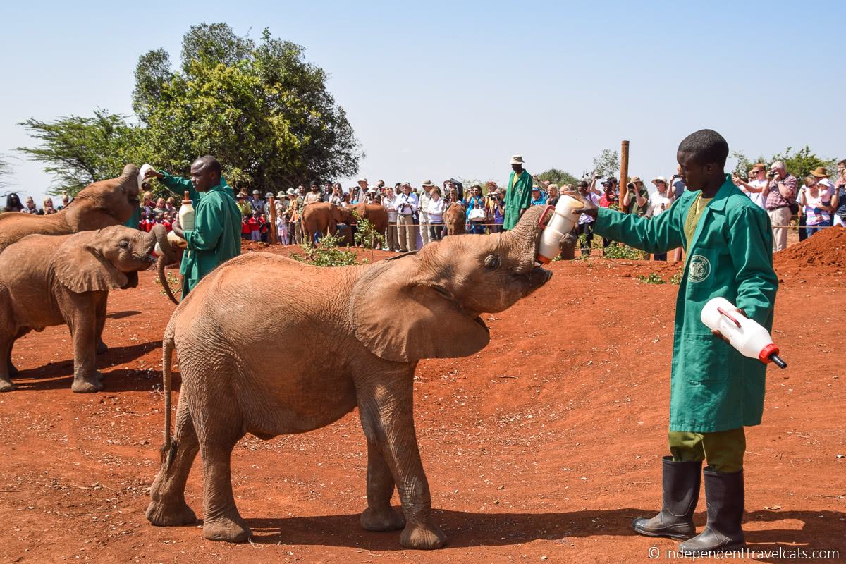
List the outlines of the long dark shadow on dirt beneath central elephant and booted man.
<svg viewBox="0 0 846 564">
<path fill-rule="evenodd" d="M 569 544 L 569 539 L 590 536 L 631 536 L 644 546 L 656 542 L 675 545 L 671 539 L 638 537 L 631 529 L 634 517 L 650 516 L 653 510 L 622 508 L 560 513 L 473 513 L 433 510 L 432 516 L 449 537 L 448 547 L 503 546 L 551 540 Z M 798 520 L 801 527 L 747 531 L 752 550 L 839 550 L 846 554 L 843 526 L 846 513 L 832 511 L 763 511 L 747 513 L 744 523 L 774 523 Z M 255 544 L 331 545 L 363 550 L 399 550 L 399 531 L 370 533 L 360 527 L 359 515 L 325 515 L 279 519 L 246 519 Z M 705 523 L 705 512 L 697 512 L 697 530 Z M 645 554 L 645 553 L 644 553 Z M 767 561 L 766 558 L 762 559 Z M 775 561 L 775 560 L 773 560 Z"/>
</svg>

